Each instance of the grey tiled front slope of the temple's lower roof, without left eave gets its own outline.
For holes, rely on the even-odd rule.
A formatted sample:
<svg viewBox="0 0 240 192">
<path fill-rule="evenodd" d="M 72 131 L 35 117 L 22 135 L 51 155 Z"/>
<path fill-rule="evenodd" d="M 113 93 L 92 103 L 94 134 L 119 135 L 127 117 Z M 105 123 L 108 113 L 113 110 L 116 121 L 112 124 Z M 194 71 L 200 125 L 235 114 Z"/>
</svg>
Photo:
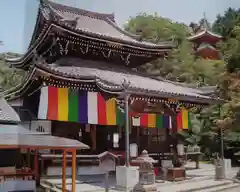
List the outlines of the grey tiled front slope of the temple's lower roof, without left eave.
<svg viewBox="0 0 240 192">
<path fill-rule="evenodd" d="M 201 95 L 196 89 L 183 87 L 167 81 L 161 81 L 151 78 L 146 75 L 141 75 L 135 71 L 116 67 L 111 65 L 104 66 L 103 63 L 98 67 L 91 64 L 80 64 L 78 66 L 51 66 L 41 65 L 39 69 L 43 69 L 50 74 L 55 74 L 59 77 L 71 78 L 75 80 L 92 79 L 103 85 L 108 90 L 120 90 L 124 80 L 129 81 L 129 90 L 146 94 L 158 95 L 158 97 L 181 97 L 183 100 L 194 102 L 209 103 L 215 100 L 211 97 Z M 185 97 L 185 98 L 184 98 Z"/>
</svg>

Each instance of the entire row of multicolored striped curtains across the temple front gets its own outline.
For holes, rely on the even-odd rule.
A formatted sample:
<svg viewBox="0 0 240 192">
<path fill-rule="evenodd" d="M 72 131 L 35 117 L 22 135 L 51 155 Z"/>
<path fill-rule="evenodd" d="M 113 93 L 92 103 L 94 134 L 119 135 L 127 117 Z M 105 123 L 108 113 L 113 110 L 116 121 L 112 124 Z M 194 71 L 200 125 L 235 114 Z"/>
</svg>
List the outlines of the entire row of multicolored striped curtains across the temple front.
<svg viewBox="0 0 240 192">
<path fill-rule="evenodd" d="M 181 113 L 182 117 L 186 116 L 184 114 L 184 112 Z M 172 129 L 170 116 L 148 113 L 129 113 L 129 115 L 133 126 Z M 105 100 L 98 92 L 83 92 L 49 86 L 41 89 L 38 119 L 83 124 L 123 125 L 124 113 L 118 107 L 115 98 Z M 178 125 L 182 126 L 179 122 Z M 184 127 L 186 127 L 185 124 Z"/>
</svg>

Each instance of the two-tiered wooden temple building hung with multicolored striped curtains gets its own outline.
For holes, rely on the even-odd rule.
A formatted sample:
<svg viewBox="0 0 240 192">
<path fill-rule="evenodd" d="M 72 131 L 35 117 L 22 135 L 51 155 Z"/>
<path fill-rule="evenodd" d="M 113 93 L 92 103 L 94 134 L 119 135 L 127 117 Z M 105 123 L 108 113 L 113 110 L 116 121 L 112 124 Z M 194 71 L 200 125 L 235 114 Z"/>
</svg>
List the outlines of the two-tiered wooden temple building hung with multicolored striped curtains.
<svg viewBox="0 0 240 192">
<path fill-rule="evenodd" d="M 37 130 L 89 145 L 81 154 L 110 151 L 124 156 L 127 92 L 130 144 L 137 145 L 138 153 L 170 152 L 174 133 L 189 127 L 188 110 L 215 102 L 201 89 L 138 72 L 139 66 L 164 57 L 173 47 L 141 41 L 118 27 L 113 14 L 40 0 L 28 51 L 7 58 L 27 76 L 4 95 L 22 121 L 50 122 L 50 128 L 41 125 Z"/>
</svg>

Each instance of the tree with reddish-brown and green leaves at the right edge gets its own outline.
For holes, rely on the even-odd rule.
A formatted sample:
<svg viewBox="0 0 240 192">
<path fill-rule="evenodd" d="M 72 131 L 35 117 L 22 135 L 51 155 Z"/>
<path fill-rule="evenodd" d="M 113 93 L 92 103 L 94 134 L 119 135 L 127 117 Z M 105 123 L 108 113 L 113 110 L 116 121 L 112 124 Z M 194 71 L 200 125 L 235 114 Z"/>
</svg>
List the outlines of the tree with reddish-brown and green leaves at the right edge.
<svg viewBox="0 0 240 192">
<path fill-rule="evenodd" d="M 225 128 L 240 132 L 240 23 L 233 27 L 221 49 L 226 65 L 220 88 L 222 97 L 228 101 L 223 106 L 225 121 L 222 123 Z"/>
</svg>

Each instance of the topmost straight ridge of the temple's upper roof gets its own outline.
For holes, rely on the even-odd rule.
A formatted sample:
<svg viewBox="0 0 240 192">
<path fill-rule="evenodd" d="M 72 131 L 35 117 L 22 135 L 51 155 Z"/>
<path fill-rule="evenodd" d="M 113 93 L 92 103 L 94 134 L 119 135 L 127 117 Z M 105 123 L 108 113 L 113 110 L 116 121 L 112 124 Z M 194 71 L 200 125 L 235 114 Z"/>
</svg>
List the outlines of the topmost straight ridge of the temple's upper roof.
<svg viewBox="0 0 240 192">
<path fill-rule="evenodd" d="M 60 4 L 60 3 L 55 3 L 51 0 L 42 0 L 42 1 L 44 1 L 46 4 L 49 4 L 54 9 L 60 9 L 60 10 L 65 10 L 65 11 L 69 11 L 69 12 L 74 12 L 74 13 L 79 14 L 79 15 L 84 15 L 84 16 L 98 18 L 98 19 L 110 19 L 112 22 L 115 23 L 114 13 L 98 13 L 98 12 L 94 12 L 94 11 L 80 9 L 80 8 L 77 8 L 77 7 L 72 7 L 72 6 L 69 6 L 69 5 L 63 5 L 63 4 Z"/>
</svg>

